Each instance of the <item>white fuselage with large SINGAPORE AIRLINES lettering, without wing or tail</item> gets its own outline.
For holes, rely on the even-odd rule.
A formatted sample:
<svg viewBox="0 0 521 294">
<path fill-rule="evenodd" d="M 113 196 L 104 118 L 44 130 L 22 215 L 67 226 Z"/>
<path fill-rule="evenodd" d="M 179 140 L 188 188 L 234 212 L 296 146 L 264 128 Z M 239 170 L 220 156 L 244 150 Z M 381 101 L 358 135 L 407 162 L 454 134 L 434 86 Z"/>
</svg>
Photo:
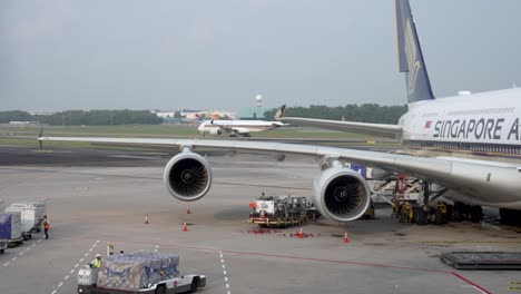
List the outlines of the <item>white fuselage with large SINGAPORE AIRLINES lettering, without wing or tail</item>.
<svg viewBox="0 0 521 294">
<path fill-rule="evenodd" d="M 520 121 L 521 89 L 507 89 L 414 102 L 400 125 L 405 146 L 521 166 Z"/>
</svg>

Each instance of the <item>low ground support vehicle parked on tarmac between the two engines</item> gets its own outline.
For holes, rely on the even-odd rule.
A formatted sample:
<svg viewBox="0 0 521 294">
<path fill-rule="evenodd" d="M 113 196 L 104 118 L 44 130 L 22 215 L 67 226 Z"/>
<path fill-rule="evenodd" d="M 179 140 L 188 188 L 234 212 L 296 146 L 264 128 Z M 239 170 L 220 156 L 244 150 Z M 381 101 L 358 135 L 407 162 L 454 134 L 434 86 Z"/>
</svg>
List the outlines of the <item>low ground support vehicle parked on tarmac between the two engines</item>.
<svg viewBox="0 0 521 294">
<path fill-rule="evenodd" d="M 249 223 L 260 227 L 302 225 L 307 217 L 306 197 L 260 196 L 249 204 Z"/>
</svg>

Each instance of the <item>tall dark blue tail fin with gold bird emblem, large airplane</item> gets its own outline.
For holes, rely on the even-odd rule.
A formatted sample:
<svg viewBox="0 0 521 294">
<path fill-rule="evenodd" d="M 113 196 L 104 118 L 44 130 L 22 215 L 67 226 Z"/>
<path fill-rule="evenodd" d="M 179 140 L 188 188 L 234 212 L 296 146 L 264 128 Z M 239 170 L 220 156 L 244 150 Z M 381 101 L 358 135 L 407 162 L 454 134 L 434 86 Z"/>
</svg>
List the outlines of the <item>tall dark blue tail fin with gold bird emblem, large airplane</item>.
<svg viewBox="0 0 521 294">
<path fill-rule="evenodd" d="M 400 72 L 405 72 L 407 101 L 432 100 L 431 82 L 423 61 L 422 48 L 416 35 L 409 0 L 396 2 L 396 30 Z"/>
</svg>

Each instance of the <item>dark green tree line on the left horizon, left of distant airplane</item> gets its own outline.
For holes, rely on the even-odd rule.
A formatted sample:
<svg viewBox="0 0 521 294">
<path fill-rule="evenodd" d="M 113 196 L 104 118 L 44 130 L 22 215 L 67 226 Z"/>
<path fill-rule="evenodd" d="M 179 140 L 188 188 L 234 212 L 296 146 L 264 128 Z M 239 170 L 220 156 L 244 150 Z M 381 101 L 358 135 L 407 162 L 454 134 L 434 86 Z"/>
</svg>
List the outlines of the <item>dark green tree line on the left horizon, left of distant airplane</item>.
<svg viewBox="0 0 521 294">
<path fill-rule="evenodd" d="M 68 110 L 52 115 L 31 115 L 26 111 L 0 111 L 0 124 L 38 121 L 51 126 L 158 125 L 163 118 L 149 110 Z"/>
</svg>

